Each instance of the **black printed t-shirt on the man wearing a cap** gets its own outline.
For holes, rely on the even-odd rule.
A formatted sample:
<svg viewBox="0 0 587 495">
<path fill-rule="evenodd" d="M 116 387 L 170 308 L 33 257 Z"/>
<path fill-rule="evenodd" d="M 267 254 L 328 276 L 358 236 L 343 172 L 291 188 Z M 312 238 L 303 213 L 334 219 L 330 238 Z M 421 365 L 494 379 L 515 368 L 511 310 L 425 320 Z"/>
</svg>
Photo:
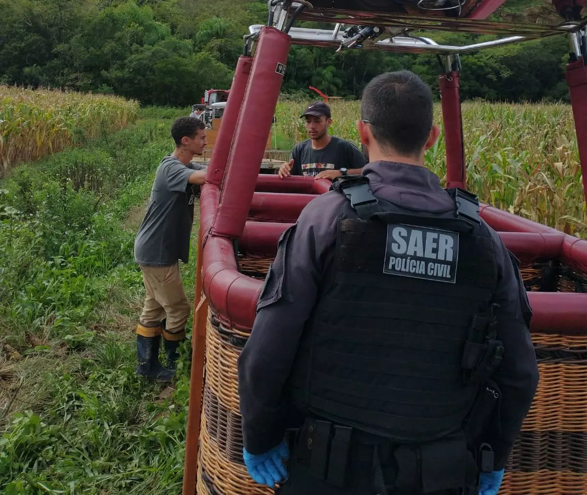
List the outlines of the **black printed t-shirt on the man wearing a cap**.
<svg viewBox="0 0 587 495">
<path fill-rule="evenodd" d="M 292 176 L 315 177 L 324 170 L 362 169 L 365 166 L 363 153 L 346 139 L 332 136 L 321 150 L 312 148 L 312 140 L 298 143 L 292 150 L 294 166 Z"/>
</svg>

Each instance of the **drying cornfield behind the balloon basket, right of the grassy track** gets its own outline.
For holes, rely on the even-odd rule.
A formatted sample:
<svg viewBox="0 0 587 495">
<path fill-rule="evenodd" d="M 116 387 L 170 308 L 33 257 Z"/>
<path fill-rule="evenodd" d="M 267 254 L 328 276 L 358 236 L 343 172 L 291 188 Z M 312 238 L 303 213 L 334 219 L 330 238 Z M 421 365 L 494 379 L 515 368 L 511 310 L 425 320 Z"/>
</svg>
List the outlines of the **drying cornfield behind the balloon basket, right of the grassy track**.
<svg viewBox="0 0 587 495">
<path fill-rule="evenodd" d="M 284 146 L 308 139 L 299 115 L 308 102 L 280 102 L 274 132 Z M 359 146 L 359 102 L 333 100 L 331 133 Z M 435 107 L 441 126 L 440 105 Z M 571 107 L 463 103 L 467 187 L 510 213 L 587 238 L 583 179 Z M 444 182 L 444 134 L 426 154 Z"/>
</svg>

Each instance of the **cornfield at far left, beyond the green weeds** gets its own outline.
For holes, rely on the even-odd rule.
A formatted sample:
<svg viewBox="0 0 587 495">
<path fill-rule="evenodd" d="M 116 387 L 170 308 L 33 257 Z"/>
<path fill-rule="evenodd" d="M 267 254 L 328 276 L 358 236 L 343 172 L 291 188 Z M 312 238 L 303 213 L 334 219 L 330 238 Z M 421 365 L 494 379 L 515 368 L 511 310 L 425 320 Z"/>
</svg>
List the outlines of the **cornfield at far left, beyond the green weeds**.
<svg viewBox="0 0 587 495">
<path fill-rule="evenodd" d="M 123 129 L 138 109 L 116 96 L 0 86 L 0 176 L 15 164 Z"/>
</svg>

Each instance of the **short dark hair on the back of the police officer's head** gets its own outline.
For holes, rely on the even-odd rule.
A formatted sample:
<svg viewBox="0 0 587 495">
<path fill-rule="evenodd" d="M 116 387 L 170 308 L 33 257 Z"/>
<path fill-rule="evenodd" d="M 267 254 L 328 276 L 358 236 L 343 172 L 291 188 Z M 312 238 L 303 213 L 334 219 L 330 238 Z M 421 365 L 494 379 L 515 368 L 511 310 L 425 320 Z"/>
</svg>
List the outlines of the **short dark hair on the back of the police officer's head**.
<svg viewBox="0 0 587 495">
<path fill-rule="evenodd" d="M 409 70 L 387 72 L 363 90 L 361 120 L 371 124 L 383 148 L 407 156 L 419 154 L 433 124 L 430 87 Z"/>
</svg>

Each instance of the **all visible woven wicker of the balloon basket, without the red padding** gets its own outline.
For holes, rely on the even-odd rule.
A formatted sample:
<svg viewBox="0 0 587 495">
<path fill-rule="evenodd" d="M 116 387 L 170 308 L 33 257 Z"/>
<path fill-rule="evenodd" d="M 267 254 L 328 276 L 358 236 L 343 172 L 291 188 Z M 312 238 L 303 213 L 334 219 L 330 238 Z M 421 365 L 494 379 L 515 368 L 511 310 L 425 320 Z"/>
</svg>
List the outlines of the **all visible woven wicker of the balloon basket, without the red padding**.
<svg viewBox="0 0 587 495">
<path fill-rule="evenodd" d="M 271 259 L 239 255 L 239 268 L 264 278 Z M 587 277 L 542 263 L 522 267 L 528 290 L 587 291 Z M 208 313 L 198 495 L 265 495 L 242 462 L 237 359 L 248 333 Z M 532 334 L 540 381 L 508 460 L 500 495 L 587 493 L 587 335 Z"/>
</svg>

